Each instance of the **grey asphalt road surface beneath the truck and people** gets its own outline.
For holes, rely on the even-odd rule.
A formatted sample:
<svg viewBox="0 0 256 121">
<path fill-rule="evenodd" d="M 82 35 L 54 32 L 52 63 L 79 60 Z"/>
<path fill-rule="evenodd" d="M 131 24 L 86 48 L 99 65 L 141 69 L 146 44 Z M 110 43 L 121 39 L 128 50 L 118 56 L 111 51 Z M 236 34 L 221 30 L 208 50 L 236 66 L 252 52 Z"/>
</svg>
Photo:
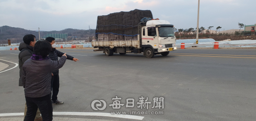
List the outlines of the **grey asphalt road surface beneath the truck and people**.
<svg viewBox="0 0 256 121">
<path fill-rule="evenodd" d="M 55 112 L 145 111 L 137 108 L 139 97 L 148 97 L 148 112 L 164 115 L 138 115 L 143 121 L 254 121 L 256 119 L 256 50 L 205 49 L 177 50 L 169 56 L 145 58 L 142 54 L 105 56 L 92 50 L 60 50 L 80 61 L 66 61 L 60 69 L 60 93 L 63 105 Z M 0 59 L 18 63 L 14 50 L 0 51 Z M 15 66 L 13 63 L 8 68 Z M 6 69 L 8 69 L 6 68 Z M 2 70 L 3 71 L 3 70 Z M 0 73 L 0 113 L 24 111 L 24 91 L 18 87 L 18 67 Z M 114 97 L 124 106 L 112 109 Z M 152 109 L 153 98 L 164 97 L 164 109 Z M 135 107 L 126 108 L 126 99 L 134 98 Z M 104 111 L 94 111 L 91 103 L 103 99 Z M 55 115 L 133 121 L 116 117 Z M 136 120 L 134 120 L 136 121 Z"/>
</svg>

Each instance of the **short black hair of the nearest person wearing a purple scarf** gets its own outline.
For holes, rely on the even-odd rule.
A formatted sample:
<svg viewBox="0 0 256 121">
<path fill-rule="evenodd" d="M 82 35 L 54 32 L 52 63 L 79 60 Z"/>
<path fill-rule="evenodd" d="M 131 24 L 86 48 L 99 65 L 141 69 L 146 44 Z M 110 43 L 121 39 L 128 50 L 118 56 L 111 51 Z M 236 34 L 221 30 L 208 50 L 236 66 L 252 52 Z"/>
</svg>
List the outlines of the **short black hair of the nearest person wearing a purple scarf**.
<svg viewBox="0 0 256 121">
<path fill-rule="evenodd" d="M 46 57 L 47 55 L 49 55 L 51 50 L 52 45 L 46 40 L 36 42 L 33 48 L 34 53 L 42 57 Z"/>
</svg>

